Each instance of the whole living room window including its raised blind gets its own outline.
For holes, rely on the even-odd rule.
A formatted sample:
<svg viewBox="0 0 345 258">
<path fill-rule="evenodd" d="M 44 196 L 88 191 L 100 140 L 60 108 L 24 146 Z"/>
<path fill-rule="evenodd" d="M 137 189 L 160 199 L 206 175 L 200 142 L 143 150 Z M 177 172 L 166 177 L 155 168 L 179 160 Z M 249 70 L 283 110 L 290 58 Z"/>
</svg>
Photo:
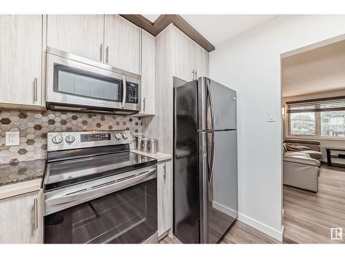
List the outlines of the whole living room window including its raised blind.
<svg viewBox="0 0 345 258">
<path fill-rule="evenodd" d="M 345 139 L 345 96 L 286 105 L 290 136 Z"/>
</svg>

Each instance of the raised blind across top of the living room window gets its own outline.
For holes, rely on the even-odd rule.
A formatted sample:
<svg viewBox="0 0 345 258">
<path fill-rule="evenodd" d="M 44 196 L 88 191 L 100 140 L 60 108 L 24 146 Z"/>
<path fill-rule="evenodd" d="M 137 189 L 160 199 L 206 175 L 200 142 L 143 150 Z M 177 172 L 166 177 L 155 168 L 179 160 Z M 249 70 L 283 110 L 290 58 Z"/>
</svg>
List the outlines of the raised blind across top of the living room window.
<svg viewBox="0 0 345 258">
<path fill-rule="evenodd" d="M 345 110 L 345 96 L 290 101 L 286 106 L 288 113 Z"/>
</svg>

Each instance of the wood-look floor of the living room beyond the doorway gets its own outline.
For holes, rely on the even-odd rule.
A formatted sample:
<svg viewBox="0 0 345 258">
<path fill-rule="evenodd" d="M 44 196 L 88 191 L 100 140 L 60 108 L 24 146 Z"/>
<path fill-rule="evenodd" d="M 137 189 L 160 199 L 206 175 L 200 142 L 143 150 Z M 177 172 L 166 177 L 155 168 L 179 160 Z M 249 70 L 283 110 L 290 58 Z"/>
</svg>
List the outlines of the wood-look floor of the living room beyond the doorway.
<svg viewBox="0 0 345 258">
<path fill-rule="evenodd" d="M 331 228 L 345 231 L 345 169 L 322 164 L 318 193 L 284 186 L 283 206 L 288 239 L 301 244 L 345 243 L 331 240 Z"/>
</svg>

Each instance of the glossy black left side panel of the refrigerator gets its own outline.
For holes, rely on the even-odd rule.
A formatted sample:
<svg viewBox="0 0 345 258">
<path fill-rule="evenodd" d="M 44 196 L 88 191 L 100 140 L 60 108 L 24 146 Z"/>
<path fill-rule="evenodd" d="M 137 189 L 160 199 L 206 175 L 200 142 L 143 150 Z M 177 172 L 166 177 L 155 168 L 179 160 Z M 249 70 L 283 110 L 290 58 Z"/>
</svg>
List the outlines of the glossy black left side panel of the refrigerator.
<svg viewBox="0 0 345 258">
<path fill-rule="evenodd" d="M 197 80 L 174 87 L 173 233 L 199 243 Z"/>
</svg>

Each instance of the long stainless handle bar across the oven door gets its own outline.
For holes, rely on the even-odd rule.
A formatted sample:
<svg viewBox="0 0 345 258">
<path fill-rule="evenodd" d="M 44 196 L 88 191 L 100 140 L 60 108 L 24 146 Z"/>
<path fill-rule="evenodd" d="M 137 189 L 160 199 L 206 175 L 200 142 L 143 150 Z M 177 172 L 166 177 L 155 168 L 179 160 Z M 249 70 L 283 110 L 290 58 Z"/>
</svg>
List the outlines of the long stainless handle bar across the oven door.
<svg viewBox="0 0 345 258">
<path fill-rule="evenodd" d="M 135 176 L 130 176 L 128 179 L 110 180 L 109 182 L 103 182 L 102 184 L 95 184 L 89 186 L 88 188 L 76 189 L 72 193 L 62 193 L 60 195 L 55 195 L 47 199 L 46 205 L 58 205 L 66 204 L 68 202 L 75 202 L 79 200 L 92 200 L 121 189 L 126 189 L 135 184 L 140 184 L 141 182 L 148 181 L 150 179 L 157 178 L 157 169 L 150 169 L 144 171 Z M 120 181 L 121 180 L 121 181 Z"/>
</svg>

